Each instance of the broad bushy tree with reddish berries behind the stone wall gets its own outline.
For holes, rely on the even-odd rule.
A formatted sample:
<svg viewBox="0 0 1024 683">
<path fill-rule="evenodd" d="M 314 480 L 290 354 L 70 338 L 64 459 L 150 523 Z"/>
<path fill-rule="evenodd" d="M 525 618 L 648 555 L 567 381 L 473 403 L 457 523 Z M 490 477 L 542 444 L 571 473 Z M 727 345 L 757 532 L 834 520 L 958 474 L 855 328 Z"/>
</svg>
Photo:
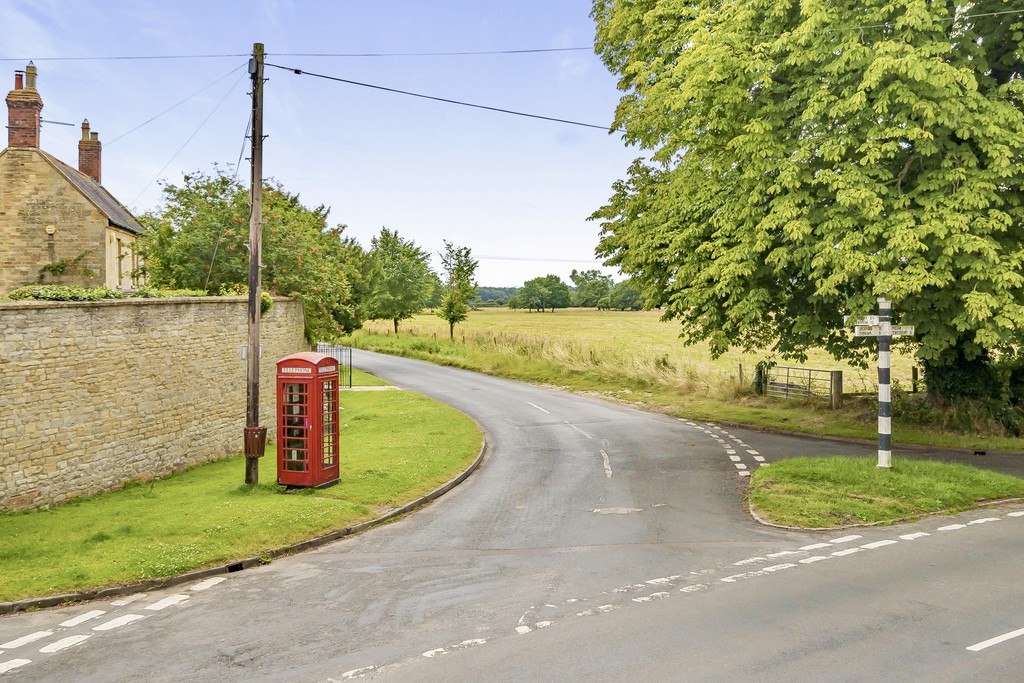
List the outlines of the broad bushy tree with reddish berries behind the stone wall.
<svg viewBox="0 0 1024 683">
<path fill-rule="evenodd" d="M 264 289 L 302 300 L 309 341 L 357 329 L 369 262 L 329 209 L 308 208 L 278 183 L 263 187 Z M 249 189 L 220 169 L 164 185 L 163 205 L 141 216 L 148 281 L 156 287 L 238 293 L 249 281 Z"/>
</svg>

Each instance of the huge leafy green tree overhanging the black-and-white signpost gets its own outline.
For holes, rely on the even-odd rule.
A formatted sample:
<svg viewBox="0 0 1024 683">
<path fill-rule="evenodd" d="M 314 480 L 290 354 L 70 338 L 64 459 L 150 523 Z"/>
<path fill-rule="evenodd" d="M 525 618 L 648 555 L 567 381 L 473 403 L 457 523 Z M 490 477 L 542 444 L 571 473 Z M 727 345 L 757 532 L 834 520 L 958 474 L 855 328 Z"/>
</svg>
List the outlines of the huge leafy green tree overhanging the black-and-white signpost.
<svg viewBox="0 0 1024 683">
<path fill-rule="evenodd" d="M 714 354 L 865 357 L 893 302 L 929 375 L 1024 330 L 1024 14 L 1016 0 L 595 0 L 645 151 L 599 253 Z M 982 364 L 983 365 L 983 364 Z"/>
</svg>

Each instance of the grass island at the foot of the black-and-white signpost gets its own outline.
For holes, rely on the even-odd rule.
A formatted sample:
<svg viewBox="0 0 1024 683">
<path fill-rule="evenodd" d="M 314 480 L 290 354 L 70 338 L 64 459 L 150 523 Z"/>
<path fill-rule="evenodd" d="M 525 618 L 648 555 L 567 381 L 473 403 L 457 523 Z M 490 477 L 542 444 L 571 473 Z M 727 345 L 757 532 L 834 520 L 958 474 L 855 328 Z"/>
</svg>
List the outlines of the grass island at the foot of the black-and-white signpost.
<svg viewBox="0 0 1024 683">
<path fill-rule="evenodd" d="M 887 523 L 1024 498 L 1024 479 L 968 465 L 900 458 L 793 458 L 758 468 L 748 503 L 764 519 L 804 528 Z"/>
</svg>

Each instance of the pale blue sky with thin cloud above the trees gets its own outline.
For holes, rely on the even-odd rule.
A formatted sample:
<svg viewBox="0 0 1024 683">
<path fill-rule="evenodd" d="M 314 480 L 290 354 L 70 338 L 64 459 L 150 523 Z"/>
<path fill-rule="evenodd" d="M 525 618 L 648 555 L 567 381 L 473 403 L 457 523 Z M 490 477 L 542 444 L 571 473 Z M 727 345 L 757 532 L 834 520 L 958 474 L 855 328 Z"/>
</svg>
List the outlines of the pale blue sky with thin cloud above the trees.
<svg viewBox="0 0 1024 683">
<path fill-rule="evenodd" d="M 104 186 L 142 213 L 159 205 L 159 180 L 237 162 L 248 144 L 248 58 L 67 57 L 246 55 L 262 42 L 268 63 L 608 126 L 620 93 L 591 49 L 298 54 L 590 48 L 589 11 L 586 0 L 3 0 L 0 66 L 6 92 L 14 71 L 35 60 L 43 119 L 75 124 L 44 124 L 41 146 L 77 163 L 87 118 L 104 143 Z M 618 134 L 273 68 L 266 76 L 264 174 L 309 206 L 330 206 L 331 222 L 348 225 L 364 247 L 381 226 L 435 254 L 449 240 L 472 250 L 487 286 L 549 273 L 568 282 L 573 268 L 598 267 L 598 226 L 587 216 L 637 156 Z"/>
</svg>

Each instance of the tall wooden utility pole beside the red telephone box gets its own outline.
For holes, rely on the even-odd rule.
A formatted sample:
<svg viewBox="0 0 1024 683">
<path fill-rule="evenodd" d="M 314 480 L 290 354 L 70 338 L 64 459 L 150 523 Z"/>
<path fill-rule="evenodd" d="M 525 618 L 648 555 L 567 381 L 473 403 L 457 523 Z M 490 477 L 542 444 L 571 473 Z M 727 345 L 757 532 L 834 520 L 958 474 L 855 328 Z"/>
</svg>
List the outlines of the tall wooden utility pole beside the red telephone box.
<svg viewBox="0 0 1024 683">
<path fill-rule="evenodd" d="M 260 268 L 263 231 L 263 43 L 253 43 L 249 60 L 253 80 L 252 204 L 249 211 L 249 347 L 246 353 L 246 483 L 259 483 L 259 459 L 266 446 L 266 427 L 259 424 Z"/>
</svg>

